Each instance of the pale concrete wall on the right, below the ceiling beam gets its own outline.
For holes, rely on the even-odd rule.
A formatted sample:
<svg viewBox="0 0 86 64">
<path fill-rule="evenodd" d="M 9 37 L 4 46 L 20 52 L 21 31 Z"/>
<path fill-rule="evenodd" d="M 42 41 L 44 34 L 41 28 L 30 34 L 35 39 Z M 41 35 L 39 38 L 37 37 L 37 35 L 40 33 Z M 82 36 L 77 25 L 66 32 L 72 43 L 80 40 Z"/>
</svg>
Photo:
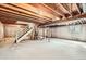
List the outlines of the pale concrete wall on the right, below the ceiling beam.
<svg viewBox="0 0 86 64">
<path fill-rule="evenodd" d="M 48 30 L 46 30 L 47 28 L 40 28 L 40 29 L 41 29 L 41 31 L 39 33 L 40 35 L 42 35 L 44 33 L 42 30 L 45 29 L 45 36 L 49 36 L 50 34 L 51 36 L 49 37 L 86 41 L 86 24 L 52 27 L 49 28 Z"/>
</svg>

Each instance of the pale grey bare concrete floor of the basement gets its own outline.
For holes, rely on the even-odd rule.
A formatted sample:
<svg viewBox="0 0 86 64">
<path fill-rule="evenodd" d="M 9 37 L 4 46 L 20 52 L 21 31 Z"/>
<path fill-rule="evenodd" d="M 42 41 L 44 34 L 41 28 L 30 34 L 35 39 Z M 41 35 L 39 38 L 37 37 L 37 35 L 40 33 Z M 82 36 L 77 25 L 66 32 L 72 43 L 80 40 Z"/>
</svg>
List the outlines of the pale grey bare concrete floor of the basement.
<svg viewBox="0 0 86 64">
<path fill-rule="evenodd" d="M 25 40 L 9 48 L 1 48 L 0 59 L 83 60 L 86 59 L 86 44 L 85 42 L 53 38 Z"/>
</svg>

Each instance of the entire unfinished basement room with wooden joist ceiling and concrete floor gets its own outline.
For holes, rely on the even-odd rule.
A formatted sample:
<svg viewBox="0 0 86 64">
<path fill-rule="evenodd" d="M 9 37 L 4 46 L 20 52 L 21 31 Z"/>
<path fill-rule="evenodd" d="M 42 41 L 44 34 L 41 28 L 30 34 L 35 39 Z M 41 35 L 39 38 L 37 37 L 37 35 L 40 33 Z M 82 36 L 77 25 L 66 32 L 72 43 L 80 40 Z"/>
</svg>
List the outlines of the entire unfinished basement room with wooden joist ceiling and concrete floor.
<svg viewBox="0 0 86 64">
<path fill-rule="evenodd" d="M 0 60 L 85 60 L 86 3 L 0 3 Z"/>
</svg>

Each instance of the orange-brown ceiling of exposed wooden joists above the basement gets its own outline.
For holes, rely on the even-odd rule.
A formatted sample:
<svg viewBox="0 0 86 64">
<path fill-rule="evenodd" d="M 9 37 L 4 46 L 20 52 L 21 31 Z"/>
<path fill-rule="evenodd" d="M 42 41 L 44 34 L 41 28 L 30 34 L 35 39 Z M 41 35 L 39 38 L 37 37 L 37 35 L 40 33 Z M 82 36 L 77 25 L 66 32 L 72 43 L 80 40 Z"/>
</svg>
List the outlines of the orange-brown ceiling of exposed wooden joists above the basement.
<svg viewBox="0 0 86 64">
<path fill-rule="evenodd" d="M 74 18 L 81 9 L 78 3 L 1 3 L 0 16 L 46 24 Z"/>
</svg>

